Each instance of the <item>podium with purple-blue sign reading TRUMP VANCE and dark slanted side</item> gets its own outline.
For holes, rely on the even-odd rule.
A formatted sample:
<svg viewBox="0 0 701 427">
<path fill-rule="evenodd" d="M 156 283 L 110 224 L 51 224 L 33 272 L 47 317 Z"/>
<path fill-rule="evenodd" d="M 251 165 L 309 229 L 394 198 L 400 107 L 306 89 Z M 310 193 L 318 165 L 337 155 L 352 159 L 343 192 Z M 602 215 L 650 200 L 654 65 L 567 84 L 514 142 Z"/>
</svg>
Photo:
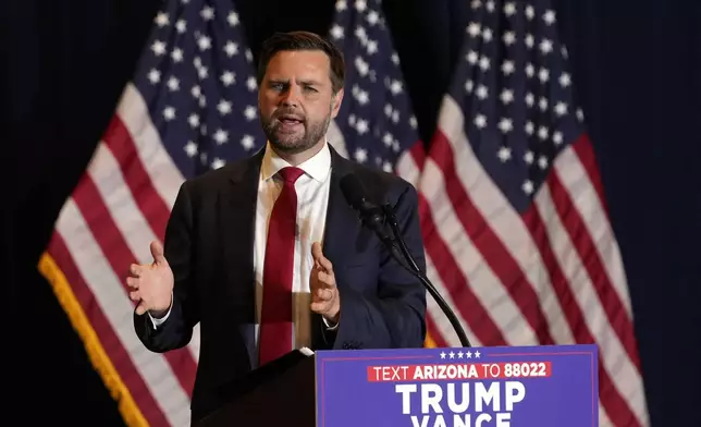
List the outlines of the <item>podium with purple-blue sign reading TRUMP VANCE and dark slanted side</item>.
<svg viewBox="0 0 701 427">
<path fill-rule="evenodd" d="M 597 427 L 595 345 L 291 352 L 201 427 Z"/>
</svg>

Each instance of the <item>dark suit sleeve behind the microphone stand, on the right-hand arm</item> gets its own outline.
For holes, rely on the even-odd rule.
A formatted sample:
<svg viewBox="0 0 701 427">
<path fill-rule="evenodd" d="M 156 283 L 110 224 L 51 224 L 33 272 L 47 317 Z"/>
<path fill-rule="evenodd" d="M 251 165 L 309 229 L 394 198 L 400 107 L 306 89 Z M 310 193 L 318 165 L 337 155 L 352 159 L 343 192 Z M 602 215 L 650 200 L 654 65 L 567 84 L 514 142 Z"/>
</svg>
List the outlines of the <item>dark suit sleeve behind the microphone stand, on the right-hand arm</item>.
<svg viewBox="0 0 701 427">
<path fill-rule="evenodd" d="M 426 273 L 423 241 L 418 216 L 418 196 L 411 185 L 395 205 L 399 229 L 419 269 Z M 341 294 L 339 329 L 333 349 L 421 347 L 426 338 L 426 289 L 383 246 L 376 294 Z"/>
</svg>

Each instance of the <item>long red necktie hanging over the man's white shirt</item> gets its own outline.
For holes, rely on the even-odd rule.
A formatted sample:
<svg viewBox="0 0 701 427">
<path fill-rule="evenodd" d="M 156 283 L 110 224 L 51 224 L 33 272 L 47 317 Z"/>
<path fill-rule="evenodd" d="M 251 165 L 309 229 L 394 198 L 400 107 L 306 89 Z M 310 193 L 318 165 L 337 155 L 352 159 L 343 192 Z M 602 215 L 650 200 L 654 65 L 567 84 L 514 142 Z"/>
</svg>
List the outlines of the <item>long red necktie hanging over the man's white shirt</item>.
<svg viewBox="0 0 701 427">
<path fill-rule="evenodd" d="M 258 350 L 260 365 L 292 351 L 292 272 L 297 228 L 295 181 L 304 171 L 291 167 L 278 173 L 282 176 L 283 187 L 268 225 Z"/>
</svg>

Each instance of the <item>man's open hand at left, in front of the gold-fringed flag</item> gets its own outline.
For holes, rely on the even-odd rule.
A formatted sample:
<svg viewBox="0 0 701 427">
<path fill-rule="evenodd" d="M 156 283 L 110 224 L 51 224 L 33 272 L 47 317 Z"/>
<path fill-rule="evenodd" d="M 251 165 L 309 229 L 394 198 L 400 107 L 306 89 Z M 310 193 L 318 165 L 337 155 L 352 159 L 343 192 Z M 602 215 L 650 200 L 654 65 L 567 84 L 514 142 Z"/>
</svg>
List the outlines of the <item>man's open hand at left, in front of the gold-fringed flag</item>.
<svg viewBox="0 0 701 427">
<path fill-rule="evenodd" d="M 161 318 L 165 316 L 171 306 L 173 271 L 163 256 L 163 246 L 158 242 L 151 242 L 150 248 L 153 263 L 150 265 L 132 264 L 126 284 L 132 290 L 130 298 L 138 303 L 137 315 L 140 316 L 149 312 L 155 318 Z"/>
</svg>

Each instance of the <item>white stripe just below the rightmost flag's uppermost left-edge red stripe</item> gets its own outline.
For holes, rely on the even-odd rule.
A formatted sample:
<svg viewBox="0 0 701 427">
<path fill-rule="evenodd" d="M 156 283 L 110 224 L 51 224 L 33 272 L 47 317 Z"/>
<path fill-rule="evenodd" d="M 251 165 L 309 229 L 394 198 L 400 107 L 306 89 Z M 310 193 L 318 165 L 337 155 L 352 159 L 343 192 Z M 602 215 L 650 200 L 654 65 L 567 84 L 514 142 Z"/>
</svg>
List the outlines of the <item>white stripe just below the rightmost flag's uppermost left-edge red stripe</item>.
<svg viewBox="0 0 701 427">
<path fill-rule="evenodd" d="M 532 328 L 520 315 L 518 306 L 506 293 L 457 219 L 453 204 L 445 194 L 443 173 L 431 158 L 423 164 L 421 192 L 431 209 L 433 220 L 440 224 L 435 229 L 438 234 L 447 245 L 460 272 L 467 278 L 468 285 L 502 331 L 506 342 L 537 344 L 538 339 Z"/>
</svg>

